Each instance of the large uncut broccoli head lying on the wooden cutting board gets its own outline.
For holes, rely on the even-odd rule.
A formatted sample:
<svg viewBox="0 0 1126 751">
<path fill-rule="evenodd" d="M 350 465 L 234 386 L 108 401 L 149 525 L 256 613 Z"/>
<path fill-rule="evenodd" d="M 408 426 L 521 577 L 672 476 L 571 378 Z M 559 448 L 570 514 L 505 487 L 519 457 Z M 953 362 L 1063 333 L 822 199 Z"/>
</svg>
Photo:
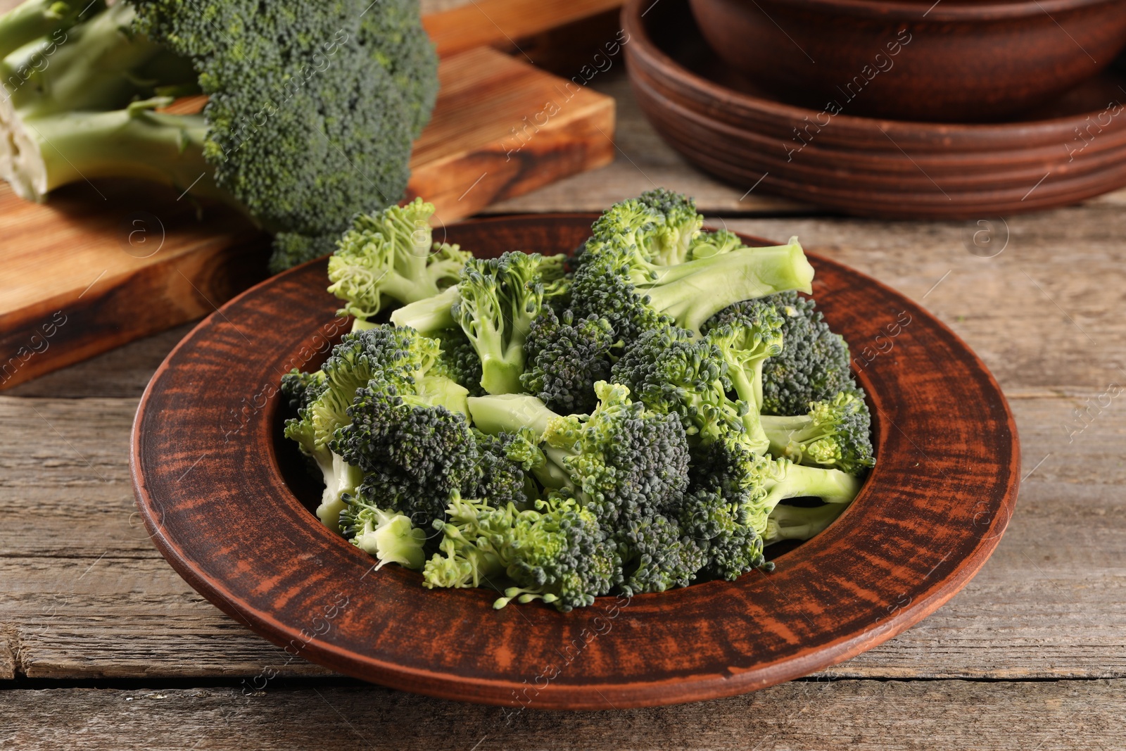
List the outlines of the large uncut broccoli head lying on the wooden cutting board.
<svg viewBox="0 0 1126 751">
<path fill-rule="evenodd" d="M 438 86 L 412 0 L 29 0 L 0 17 L 0 177 L 18 195 L 160 181 L 282 234 L 275 269 L 399 200 Z M 188 93 L 203 113 L 158 111 Z"/>
</svg>

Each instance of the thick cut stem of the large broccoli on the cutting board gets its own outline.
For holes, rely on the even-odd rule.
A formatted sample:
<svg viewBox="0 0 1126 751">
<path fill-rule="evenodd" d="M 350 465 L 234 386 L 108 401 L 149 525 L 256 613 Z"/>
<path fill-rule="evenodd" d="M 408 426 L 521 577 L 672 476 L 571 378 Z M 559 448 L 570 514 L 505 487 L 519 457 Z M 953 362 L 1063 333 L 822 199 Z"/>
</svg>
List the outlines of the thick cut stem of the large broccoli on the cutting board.
<svg viewBox="0 0 1126 751">
<path fill-rule="evenodd" d="M 163 101 L 12 123 L 18 133 L 12 137 L 14 169 L 10 177 L 3 177 L 17 194 L 33 200 L 43 200 L 52 189 L 78 180 L 135 177 L 235 203 L 215 186 L 204 161 L 203 117 L 150 111 Z"/>
</svg>

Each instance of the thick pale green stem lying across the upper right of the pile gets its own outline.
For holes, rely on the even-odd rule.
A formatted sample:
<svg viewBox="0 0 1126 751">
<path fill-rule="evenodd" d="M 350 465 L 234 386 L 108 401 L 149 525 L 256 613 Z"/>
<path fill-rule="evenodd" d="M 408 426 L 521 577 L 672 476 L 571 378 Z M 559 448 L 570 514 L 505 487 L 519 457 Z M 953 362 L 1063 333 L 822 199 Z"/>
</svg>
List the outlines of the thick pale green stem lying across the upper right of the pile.
<svg viewBox="0 0 1126 751">
<path fill-rule="evenodd" d="M 779 292 L 812 292 L 813 267 L 797 238 L 774 248 L 743 248 L 730 253 L 662 267 L 635 287 L 659 311 L 683 328 L 700 327 L 723 309 L 743 299 Z"/>
</svg>

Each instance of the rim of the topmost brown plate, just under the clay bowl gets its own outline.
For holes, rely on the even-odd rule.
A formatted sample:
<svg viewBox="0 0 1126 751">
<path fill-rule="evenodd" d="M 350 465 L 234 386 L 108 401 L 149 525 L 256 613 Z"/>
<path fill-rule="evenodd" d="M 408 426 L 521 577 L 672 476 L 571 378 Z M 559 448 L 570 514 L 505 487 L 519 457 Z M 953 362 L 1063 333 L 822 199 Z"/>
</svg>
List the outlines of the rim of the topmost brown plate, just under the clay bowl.
<svg viewBox="0 0 1126 751">
<path fill-rule="evenodd" d="M 662 78 L 671 78 L 678 88 L 683 89 L 686 95 L 691 96 L 701 106 L 708 106 L 711 102 L 712 106 L 718 106 L 720 109 L 730 113 L 731 106 L 735 105 L 747 113 L 756 113 L 759 116 L 765 115 L 771 122 L 778 117 L 785 117 L 795 123 L 803 123 L 805 118 L 813 118 L 821 113 L 821 110 L 788 105 L 775 99 L 731 89 L 688 70 L 679 61 L 665 53 L 650 36 L 649 28 L 641 14 L 649 5 L 646 0 L 626 0 L 625 6 L 622 8 L 622 25 L 626 33 L 629 34 L 629 43 L 624 46 L 631 64 L 644 65 L 650 70 L 659 69 Z M 687 7 L 685 11 L 688 12 Z M 636 44 L 634 43 L 635 41 Z M 650 73 L 650 75 L 654 73 Z M 726 107 L 723 107 L 724 104 L 726 104 Z M 936 135 L 1003 140 L 1040 136 L 1047 140 L 1070 136 L 1071 129 L 1084 122 L 1083 117 L 1097 115 L 1099 111 L 1101 110 L 1096 109 L 1084 113 L 1082 116 L 1065 115 L 1039 120 L 981 124 L 896 120 L 879 117 L 860 117 L 858 115 L 841 113 L 832 117 L 832 123 L 839 126 L 839 131 L 848 129 L 850 134 L 855 135 L 868 135 L 875 132 L 876 128 L 881 128 L 895 136 L 917 137 L 920 141 L 932 141 Z M 1070 138 L 1066 141 L 1070 141 Z"/>
</svg>

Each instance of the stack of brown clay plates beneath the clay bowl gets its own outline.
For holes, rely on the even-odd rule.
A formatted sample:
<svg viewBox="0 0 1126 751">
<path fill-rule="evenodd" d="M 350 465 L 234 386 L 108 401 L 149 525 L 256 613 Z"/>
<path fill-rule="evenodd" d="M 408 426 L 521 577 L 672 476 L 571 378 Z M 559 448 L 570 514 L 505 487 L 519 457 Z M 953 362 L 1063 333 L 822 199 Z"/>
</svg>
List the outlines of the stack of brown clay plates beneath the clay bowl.
<svg viewBox="0 0 1126 751">
<path fill-rule="evenodd" d="M 1028 120 L 855 117 L 775 100 L 711 51 L 685 0 L 645 12 L 650 5 L 632 0 L 623 10 L 642 109 L 689 161 L 744 190 L 864 216 L 980 218 L 1126 184 L 1126 95 L 1114 71 Z"/>
</svg>

